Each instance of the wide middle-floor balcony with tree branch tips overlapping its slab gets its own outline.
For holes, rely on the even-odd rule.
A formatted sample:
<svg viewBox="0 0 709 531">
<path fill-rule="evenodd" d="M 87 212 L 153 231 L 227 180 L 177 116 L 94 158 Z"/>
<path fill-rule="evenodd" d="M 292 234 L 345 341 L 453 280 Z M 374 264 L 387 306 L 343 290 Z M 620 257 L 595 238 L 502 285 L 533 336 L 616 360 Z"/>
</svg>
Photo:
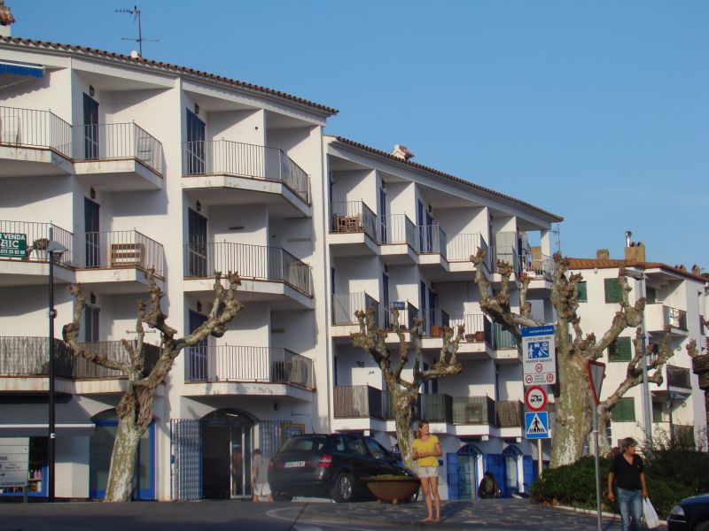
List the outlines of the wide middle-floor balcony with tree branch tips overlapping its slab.
<svg viewBox="0 0 709 531">
<path fill-rule="evenodd" d="M 273 309 L 313 307 L 310 266 L 287 250 L 246 243 L 184 245 L 185 291 L 212 293 L 214 271 L 241 277 L 241 301 L 270 302 Z"/>
</svg>

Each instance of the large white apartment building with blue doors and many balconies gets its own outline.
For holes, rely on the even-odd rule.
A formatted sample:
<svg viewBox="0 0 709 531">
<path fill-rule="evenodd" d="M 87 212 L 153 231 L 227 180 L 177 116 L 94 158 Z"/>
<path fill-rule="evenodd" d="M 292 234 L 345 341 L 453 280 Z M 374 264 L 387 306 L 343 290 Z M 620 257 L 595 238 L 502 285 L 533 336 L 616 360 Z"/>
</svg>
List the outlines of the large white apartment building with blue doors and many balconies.
<svg viewBox="0 0 709 531">
<path fill-rule="evenodd" d="M 126 384 L 61 342 L 66 285 L 88 298 L 87 348 L 126 359 L 151 267 L 180 335 L 209 312 L 215 270 L 238 271 L 246 307 L 222 338 L 177 358 L 141 443 L 136 498 L 249 496 L 253 449 L 271 455 L 299 430 L 393 446 L 381 374 L 348 337 L 370 305 L 382 326 L 393 307 L 423 317 L 425 364 L 441 326 L 469 334 L 464 372 L 432 382 L 419 405 L 446 452 L 441 495 L 475 496 L 486 469 L 505 492 L 526 488 L 536 454 L 520 359 L 479 312 L 469 257 L 487 249 L 493 287 L 497 258 L 530 274 L 537 317 L 551 320 L 549 232 L 562 219 L 405 150 L 325 136 L 335 112 L 183 66 L 0 38 L 0 232 L 27 238 L 27 252 L 0 257 L 0 436 L 30 437 L 31 496 L 47 492 L 48 240 L 67 249 L 53 268 L 57 496 L 103 496 Z"/>
</svg>

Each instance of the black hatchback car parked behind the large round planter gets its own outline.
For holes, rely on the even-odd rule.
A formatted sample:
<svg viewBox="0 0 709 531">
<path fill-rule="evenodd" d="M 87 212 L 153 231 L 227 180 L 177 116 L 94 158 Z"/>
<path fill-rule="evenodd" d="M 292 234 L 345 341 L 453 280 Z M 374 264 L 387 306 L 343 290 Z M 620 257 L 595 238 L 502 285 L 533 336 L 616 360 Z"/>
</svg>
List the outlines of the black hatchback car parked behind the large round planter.
<svg viewBox="0 0 709 531">
<path fill-rule="evenodd" d="M 362 478 L 380 474 L 415 475 L 370 437 L 296 435 L 271 458 L 269 485 L 275 499 L 325 496 L 349 502 L 370 496 Z"/>
</svg>

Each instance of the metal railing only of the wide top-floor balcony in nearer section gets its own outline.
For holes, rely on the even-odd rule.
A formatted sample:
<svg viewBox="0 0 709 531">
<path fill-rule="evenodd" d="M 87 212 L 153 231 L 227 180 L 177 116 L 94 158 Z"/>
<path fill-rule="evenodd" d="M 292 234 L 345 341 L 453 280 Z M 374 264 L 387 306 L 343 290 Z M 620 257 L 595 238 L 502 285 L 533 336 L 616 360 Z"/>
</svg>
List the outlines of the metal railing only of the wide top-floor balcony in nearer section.
<svg viewBox="0 0 709 531">
<path fill-rule="evenodd" d="M 310 204 L 308 173 L 277 148 L 228 140 L 183 142 L 183 173 L 279 181 Z"/>
</svg>

